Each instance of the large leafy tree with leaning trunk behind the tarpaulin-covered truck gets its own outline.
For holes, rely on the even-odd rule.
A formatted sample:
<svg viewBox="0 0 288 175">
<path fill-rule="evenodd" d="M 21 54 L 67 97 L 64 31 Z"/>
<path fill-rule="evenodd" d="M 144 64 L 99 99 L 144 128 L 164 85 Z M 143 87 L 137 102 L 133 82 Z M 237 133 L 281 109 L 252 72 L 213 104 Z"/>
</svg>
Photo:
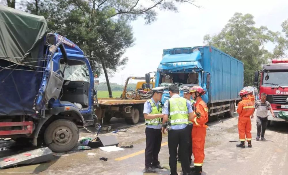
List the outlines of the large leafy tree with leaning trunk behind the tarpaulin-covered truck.
<svg viewBox="0 0 288 175">
<path fill-rule="evenodd" d="M 130 22 L 142 16 L 150 24 L 156 20 L 156 9 L 177 12 L 176 3 L 195 5 L 194 0 L 35 0 L 23 4 L 27 12 L 46 17 L 51 31 L 71 39 L 89 59 L 101 63 L 112 97 L 108 74 L 128 61 L 121 58 L 134 42 Z"/>
</svg>

